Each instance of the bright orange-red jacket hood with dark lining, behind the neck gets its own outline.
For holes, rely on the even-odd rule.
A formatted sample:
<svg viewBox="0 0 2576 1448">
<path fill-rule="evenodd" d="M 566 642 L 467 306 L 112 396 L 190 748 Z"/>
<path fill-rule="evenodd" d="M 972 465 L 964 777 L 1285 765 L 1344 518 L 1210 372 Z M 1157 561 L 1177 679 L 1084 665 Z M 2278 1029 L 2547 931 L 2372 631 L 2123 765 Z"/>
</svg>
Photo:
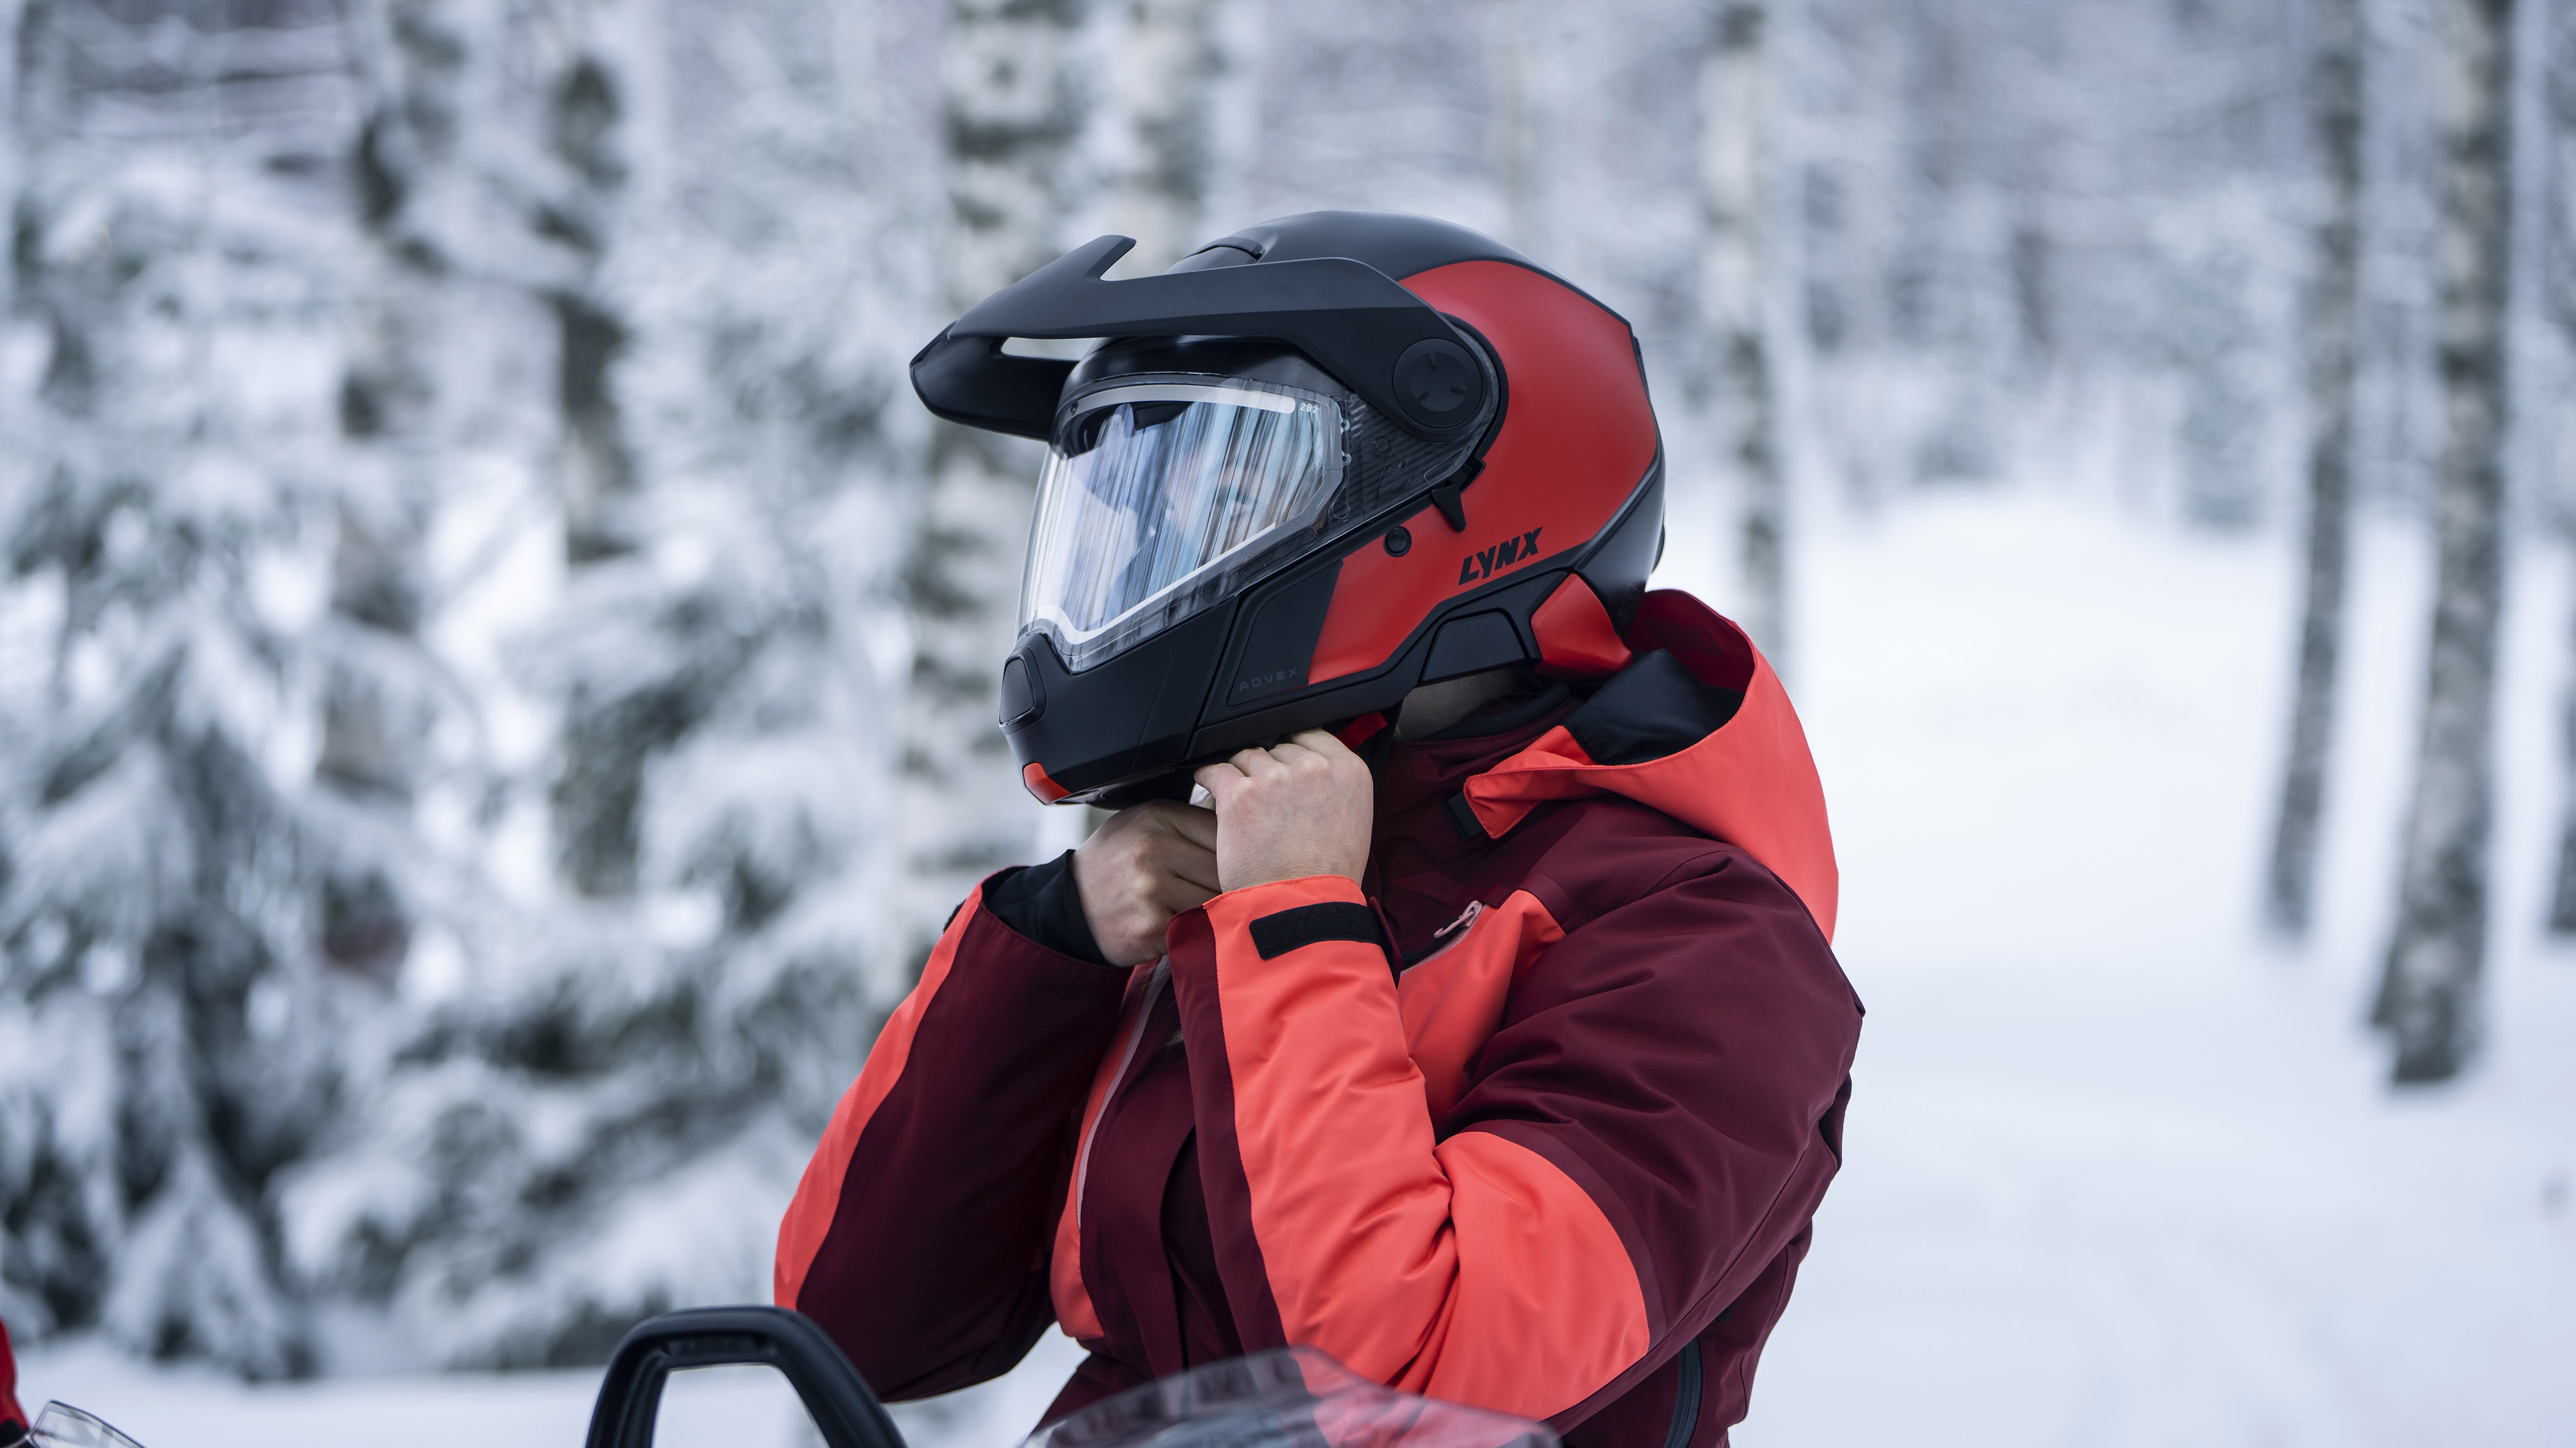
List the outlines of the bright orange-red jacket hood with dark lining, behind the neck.
<svg viewBox="0 0 2576 1448">
<path fill-rule="evenodd" d="M 1571 590 L 1566 590 L 1571 593 Z M 1466 783 L 1494 837 L 1551 799 L 1618 794 L 1744 850 L 1780 876 L 1826 940 L 1839 873 L 1824 783 L 1798 711 L 1744 629 L 1680 590 L 1643 598 L 1625 631 L 1582 593 L 1553 634 L 1556 672 L 1607 675 L 1561 724 Z"/>
</svg>

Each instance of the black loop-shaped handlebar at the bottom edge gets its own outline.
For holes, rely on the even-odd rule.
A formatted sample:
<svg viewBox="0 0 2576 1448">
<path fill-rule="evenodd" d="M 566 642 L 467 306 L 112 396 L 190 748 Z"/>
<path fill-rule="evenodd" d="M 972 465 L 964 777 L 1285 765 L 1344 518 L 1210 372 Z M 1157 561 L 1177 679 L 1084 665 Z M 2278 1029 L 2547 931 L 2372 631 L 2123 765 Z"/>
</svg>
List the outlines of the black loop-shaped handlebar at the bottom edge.
<svg viewBox="0 0 2576 1448">
<path fill-rule="evenodd" d="M 783 1306 L 701 1306 L 639 1322 L 608 1358 L 587 1448 L 652 1448 L 662 1381 L 672 1368 L 768 1363 L 786 1373 L 827 1448 L 904 1448 L 840 1345 Z"/>
</svg>

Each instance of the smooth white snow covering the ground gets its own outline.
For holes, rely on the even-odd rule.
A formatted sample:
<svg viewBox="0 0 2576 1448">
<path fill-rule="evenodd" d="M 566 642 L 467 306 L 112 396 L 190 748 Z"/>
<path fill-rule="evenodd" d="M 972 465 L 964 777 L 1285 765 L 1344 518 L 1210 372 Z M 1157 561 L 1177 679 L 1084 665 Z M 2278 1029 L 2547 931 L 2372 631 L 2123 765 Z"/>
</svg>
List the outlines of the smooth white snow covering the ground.
<svg viewBox="0 0 2576 1448">
<path fill-rule="evenodd" d="M 1793 691 L 1870 1020 L 1850 1167 L 1739 1443 L 2576 1443 L 2576 958 L 2540 935 L 2576 618 L 2555 544 L 2517 551 L 2506 616 L 2486 1059 L 2391 1098 L 2357 1025 L 2427 564 L 2416 528 L 2360 536 L 2321 928 L 2280 951 L 2254 902 L 2285 536 L 2038 495 L 1819 520 Z M 1051 1340 L 1002 1384 L 904 1409 L 907 1433 L 1007 1448 L 1066 1371 Z M 592 1384 L 245 1389 L 95 1348 L 23 1363 L 31 1402 L 147 1448 L 567 1448 Z M 665 1425 L 796 1435 L 786 1389 L 737 1371 L 677 1386 Z"/>
</svg>

